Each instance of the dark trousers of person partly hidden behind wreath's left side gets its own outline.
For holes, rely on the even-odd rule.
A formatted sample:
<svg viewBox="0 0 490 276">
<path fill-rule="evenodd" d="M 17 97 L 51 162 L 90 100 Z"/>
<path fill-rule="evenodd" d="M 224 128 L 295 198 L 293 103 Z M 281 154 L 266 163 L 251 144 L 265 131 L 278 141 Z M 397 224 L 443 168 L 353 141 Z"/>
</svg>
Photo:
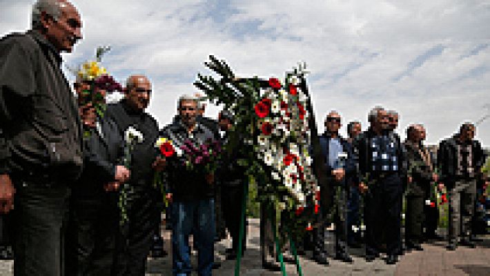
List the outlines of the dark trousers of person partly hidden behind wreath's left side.
<svg viewBox="0 0 490 276">
<path fill-rule="evenodd" d="M 230 231 L 232 248 L 238 253 L 240 221 L 242 221 L 242 200 L 244 195 L 243 185 L 222 186 L 222 207 L 226 228 Z M 244 235 L 242 238 L 242 250 L 246 248 L 246 217 L 244 223 Z"/>
</svg>

